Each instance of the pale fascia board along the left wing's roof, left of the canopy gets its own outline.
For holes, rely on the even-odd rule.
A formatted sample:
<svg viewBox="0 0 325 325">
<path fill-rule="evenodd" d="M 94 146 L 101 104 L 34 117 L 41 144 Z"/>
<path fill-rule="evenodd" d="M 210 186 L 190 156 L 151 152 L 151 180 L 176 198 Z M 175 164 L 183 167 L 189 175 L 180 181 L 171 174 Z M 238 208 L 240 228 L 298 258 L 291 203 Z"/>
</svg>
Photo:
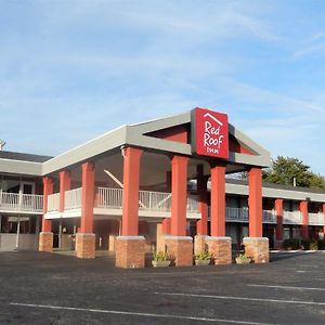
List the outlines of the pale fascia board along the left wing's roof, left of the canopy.
<svg viewBox="0 0 325 325">
<path fill-rule="evenodd" d="M 1 158 L 0 172 L 25 176 L 42 176 L 42 162 Z"/>
</svg>

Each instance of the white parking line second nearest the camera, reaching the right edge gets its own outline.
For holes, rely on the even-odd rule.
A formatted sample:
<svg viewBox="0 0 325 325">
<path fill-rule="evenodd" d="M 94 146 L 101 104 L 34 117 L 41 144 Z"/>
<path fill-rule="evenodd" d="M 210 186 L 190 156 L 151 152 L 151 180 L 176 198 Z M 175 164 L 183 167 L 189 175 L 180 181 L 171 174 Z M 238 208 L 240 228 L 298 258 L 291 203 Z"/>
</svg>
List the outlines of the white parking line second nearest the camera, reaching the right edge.
<svg viewBox="0 0 325 325">
<path fill-rule="evenodd" d="M 223 299 L 223 300 L 242 300 L 256 302 L 274 302 L 274 303 L 290 303 L 290 304 L 309 304 L 309 306 L 325 306 L 325 302 L 303 301 L 303 300 L 281 300 L 281 299 L 264 299 L 264 298 L 249 298 L 249 297 L 232 297 L 232 296 L 214 296 L 214 295 L 198 295 L 198 294 L 183 294 L 183 292 L 154 292 L 161 296 L 181 296 L 181 297 L 196 297 L 208 299 Z"/>
</svg>

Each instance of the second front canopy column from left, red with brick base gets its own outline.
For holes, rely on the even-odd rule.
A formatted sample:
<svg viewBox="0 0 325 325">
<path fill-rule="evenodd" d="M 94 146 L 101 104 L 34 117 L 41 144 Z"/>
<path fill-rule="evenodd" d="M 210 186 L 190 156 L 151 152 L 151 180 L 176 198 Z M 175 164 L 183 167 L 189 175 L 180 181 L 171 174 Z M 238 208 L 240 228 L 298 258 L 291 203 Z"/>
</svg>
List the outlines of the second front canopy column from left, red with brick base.
<svg viewBox="0 0 325 325">
<path fill-rule="evenodd" d="M 165 243 L 177 266 L 193 264 L 193 239 L 186 236 L 187 164 L 187 157 L 171 158 L 171 229 Z"/>
</svg>

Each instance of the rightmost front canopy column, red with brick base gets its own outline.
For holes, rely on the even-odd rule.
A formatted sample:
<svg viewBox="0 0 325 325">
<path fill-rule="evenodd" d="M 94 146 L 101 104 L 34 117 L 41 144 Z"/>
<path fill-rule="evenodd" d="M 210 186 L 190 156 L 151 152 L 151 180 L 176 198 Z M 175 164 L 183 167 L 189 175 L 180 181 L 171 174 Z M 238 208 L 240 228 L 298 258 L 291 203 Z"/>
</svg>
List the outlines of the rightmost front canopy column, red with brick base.
<svg viewBox="0 0 325 325">
<path fill-rule="evenodd" d="M 248 208 L 249 208 L 249 237 L 243 239 L 245 253 L 253 259 L 255 263 L 269 262 L 269 238 L 262 237 L 262 170 L 253 167 L 248 171 Z"/>
</svg>

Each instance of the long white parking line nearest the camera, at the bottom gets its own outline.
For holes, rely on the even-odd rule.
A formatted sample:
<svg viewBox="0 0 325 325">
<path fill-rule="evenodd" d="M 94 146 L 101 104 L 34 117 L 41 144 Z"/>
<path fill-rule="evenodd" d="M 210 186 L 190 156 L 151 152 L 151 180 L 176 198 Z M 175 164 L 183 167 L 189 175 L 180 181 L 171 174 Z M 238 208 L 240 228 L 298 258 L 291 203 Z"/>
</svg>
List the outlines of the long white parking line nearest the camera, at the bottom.
<svg viewBox="0 0 325 325">
<path fill-rule="evenodd" d="M 193 316 L 182 316 L 182 315 L 166 315 L 166 314 L 156 314 L 156 313 L 127 312 L 127 311 L 117 311 L 117 310 L 87 309 L 87 308 L 65 307 L 65 306 L 34 304 L 34 303 L 20 303 L 20 302 L 10 302 L 10 306 L 38 308 L 38 309 L 51 309 L 51 310 L 81 311 L 81 312 L 91 312 L 91 313 L 106 313 L 106 314 L 117 314 L 117 315 L 133 315 L 133 316 L 154 317 L 154 318 L 174 318 L 174 320 L 186 320 L 186 321 L 200 321 L 200 322 L 210 322 L 210 323 L 227 323 L 227 324 L 243 324 L 243 325 L 271 325 L 269 323 L 256 323 L 256 322 L 208 318 L 208 317 L 193 317 Z"/>
</svg>

